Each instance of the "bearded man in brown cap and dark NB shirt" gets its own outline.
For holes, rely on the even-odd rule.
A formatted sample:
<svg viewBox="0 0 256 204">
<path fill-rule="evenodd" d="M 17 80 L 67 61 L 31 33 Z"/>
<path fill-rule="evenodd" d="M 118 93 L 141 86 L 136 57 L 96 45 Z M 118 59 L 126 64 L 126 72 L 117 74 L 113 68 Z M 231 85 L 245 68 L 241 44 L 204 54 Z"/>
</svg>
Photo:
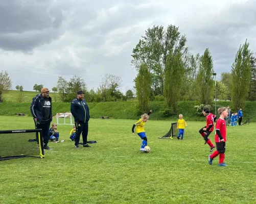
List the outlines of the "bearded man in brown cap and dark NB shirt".
<svg viewBox="0 0 256 204">
<path fill-rule="evenodd" d="M 50 123 L 52 115 L 52 98 L 49 96 L 49 89 L 42 88 L 41 94 L 32 99 L 30 112 L 34 118 L 36 129 L 42 129 L 43 148 L 51 149 L 47 144 L 49 142 Z M 38 142 L 38 136 L 37 136 Z"/>
</svg>

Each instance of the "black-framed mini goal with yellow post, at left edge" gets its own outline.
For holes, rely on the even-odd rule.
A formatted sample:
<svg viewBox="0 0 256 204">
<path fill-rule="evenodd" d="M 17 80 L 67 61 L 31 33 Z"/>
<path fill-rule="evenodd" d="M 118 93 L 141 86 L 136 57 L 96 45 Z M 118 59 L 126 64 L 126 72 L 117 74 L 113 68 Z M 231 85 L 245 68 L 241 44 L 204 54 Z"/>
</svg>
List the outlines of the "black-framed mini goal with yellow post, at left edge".
<svg viewBox="0 0 256 204">
<path fill-rule="evenodd" d="M 44 158 L 42 130 L 0 131 L 0 160 L 22 157 Z"/>
</svg>

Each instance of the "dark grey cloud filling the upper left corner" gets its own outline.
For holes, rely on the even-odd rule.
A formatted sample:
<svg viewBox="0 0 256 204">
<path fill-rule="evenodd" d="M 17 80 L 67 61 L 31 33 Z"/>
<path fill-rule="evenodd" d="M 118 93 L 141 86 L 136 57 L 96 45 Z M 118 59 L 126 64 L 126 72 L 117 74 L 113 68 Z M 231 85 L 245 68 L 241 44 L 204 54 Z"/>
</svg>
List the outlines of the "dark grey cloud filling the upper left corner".
<svg viewBox="0 0 256 204">
<path fill-rule="evenodd" d="M 28 51 L 57 39 L 65 19 L 62 15 L 65 7 L 53 2 L 1 1 L 0 48 Z"/>
</svg>

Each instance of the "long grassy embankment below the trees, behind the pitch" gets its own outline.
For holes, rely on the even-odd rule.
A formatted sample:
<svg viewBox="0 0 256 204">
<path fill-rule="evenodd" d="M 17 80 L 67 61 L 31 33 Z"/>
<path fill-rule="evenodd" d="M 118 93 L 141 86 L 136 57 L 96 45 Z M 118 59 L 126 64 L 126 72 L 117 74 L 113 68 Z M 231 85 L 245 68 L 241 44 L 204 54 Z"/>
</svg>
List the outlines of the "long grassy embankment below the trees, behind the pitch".
<svg viewBox="0 0 256 204">
<path fill-rule="evenodd" d="M 17 113 L 25 113 L 31 116 L 30 103 L 0 103 L 0 115 L 13 116 Z M 100 116 L 109 116 L 114 119 L 137 119 L 136 101 L 119 101 L 119 102 L 102 102 L 88 103 L 91 118 L 99 118 Z M 195 101 L 179 101 L 178 113 L 183 114 L 187 121 L 205 121 L 205 117 L 196 113 Z M 222 101 L 219 106 L 227 106 L 228 102 Z M 251 118 L 251 122 L 256 122 L 256 101 L 247 101 L 246 107 L 243 110 L 244 119 Z M 161 111 L 165 108 L 165 101 L 151 101 L 149 109 L 153 110 L 150 118 L 153 120 L 176 120 L 178 115 L 165 117 Z M 53 103 L 53 115 L 56 113 L 70 112 L 70 103 Z M 214 113 L 215 110 L 212 110 Z"/>
</svg>

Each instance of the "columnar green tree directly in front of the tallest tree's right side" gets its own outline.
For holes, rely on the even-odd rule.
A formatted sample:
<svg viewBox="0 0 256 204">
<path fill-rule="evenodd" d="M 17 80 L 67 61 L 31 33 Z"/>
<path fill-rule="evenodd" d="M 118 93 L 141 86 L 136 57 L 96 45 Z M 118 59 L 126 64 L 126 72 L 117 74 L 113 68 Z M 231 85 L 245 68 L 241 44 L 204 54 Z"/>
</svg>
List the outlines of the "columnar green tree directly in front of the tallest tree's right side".
<svg viewBox="0 0 256 204">
<path fill-rule="evenodd" d="M 181 53 L 169 54 L 165 68 L 165 97 L 168 109 L 173 114 L 177 111 L 177 101 L 180 96 L 182 82 L 184 78 L 184 65 L 181 59 Z M 170 113 L 172 114 L 172 113 Z"/>
</svg>

